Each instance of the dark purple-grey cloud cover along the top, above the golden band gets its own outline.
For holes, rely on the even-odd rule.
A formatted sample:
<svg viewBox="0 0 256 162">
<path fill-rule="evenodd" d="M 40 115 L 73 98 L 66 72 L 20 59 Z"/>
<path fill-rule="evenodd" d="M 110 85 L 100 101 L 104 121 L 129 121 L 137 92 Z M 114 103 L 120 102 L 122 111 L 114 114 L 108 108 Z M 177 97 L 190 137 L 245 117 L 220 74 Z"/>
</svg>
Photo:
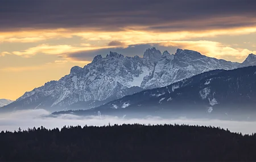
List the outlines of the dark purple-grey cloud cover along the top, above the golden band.
<svg viewBox="0 0 256 162">
<path fill-rule="evenodd" d="M 117 31 L 143 26 L 161 31 L 250 26 L 255 23 L 255 6 L 255 0 L 0 0 L 0 30 L 88 27 Z M 248 19 L 209 21 L 226 16 Z"/>
</svg>

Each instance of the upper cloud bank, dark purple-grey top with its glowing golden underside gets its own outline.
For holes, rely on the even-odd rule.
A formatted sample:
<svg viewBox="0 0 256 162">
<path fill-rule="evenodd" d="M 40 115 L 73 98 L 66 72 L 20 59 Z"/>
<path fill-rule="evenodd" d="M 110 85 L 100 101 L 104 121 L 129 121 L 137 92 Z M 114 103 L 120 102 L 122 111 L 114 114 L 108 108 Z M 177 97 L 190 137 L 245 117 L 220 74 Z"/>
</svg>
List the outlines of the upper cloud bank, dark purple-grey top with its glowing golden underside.
<svg viewBox="0 0 256 162">
<path fill-rule="evenodd" d="M 18 5 L 4 1 L 0 6 L 0 43 L 79 36 L 126 47 L 144 41 L 251 34 L 256 32 L 255 5 L 253 0 L 24 0 Z"/>
</svg>

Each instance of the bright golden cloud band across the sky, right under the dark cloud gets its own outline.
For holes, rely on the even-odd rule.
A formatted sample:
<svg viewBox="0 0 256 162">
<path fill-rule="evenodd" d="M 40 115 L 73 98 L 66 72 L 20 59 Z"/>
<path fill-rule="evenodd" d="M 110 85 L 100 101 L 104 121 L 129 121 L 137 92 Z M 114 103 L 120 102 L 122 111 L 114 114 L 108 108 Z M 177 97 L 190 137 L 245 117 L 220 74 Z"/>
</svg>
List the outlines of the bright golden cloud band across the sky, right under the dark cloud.
<svg viewBox="0 0 256 162">
<path fill-rule="evenodd" d="M 188 25 L 189 26 L 189 25 Z M 49 39 L 71 39 L 78 37 L 88 43 L 81 46 L 93 46 L 96 41 L 105 42 L 114 46 L 126 47 L 126 44 L 141 43 L 145 41 L 171 41 L 188 40 L 193 38 L 212 38 L 221 35 L 246 35 L 256 33 L 256 25 L 250 27 L 229 27 L 222 29 L 197 29 L 189 30 L 179 28 L 177 31 L 154 31 L 147 28 L 122 28 L 121 31 L 98 31 L 88 28 L 56 28 L 53 30 L 23 29 L 22 31 L 0 31 L 0 43 L 34 43 Z M 117 40 L 118 38 L 118 40 Z M 105 44 L 101 44 L 105 46 Z"/>
</svg>

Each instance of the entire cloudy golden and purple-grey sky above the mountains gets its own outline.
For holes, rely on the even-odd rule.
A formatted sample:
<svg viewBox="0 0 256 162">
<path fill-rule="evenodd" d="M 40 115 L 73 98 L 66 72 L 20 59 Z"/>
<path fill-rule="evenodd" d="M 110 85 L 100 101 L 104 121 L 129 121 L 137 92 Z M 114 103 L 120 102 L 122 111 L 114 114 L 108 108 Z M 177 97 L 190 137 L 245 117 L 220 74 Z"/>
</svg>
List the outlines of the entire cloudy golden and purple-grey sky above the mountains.
<svg viewBox="0 0 256 162">
<path fill-rule="evenodd" d="M 256 54 L 255 0 L 0 0 L 0 98 L 16 99 L 109 51 Z"/>
</svg>

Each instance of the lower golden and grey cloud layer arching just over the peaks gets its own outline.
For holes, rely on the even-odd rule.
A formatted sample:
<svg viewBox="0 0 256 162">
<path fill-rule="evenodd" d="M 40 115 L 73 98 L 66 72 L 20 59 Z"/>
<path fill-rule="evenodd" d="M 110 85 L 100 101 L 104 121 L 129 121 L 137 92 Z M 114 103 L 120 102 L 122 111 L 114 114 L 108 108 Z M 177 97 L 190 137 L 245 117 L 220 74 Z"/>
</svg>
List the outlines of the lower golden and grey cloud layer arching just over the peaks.
<svg viewBox="0 0 256 162">
<path fill-rule="evenodd" d="M 129 37 L 129 35 L 126 35 Z M 158 35 L 159 36 L 159 35 Z M 92 37 L 96 38 L 96 37 Z M 120 37 L 122 39 L 122 37 Z M 147 41 L 144 41 L 147 40 Z M 157 40 L 157 41 L 148 41 L 148 40 Z M 158 41 L 160 40 L 160 41 Z M 147 44 L 144 45 L 143 44 Z M 134 48 L 133 46 L 137 46 Z M 13 51 L 13 52 L 2 52 L 1 55 L 5 56 L 6 54 L 13 54 L 22 57 L 31 57 L 37 55 L 38 53 L 44 53 L 46 55 L 58 55 L 66 61 L 92 61 L 93 57 L 96 55 L 105 55 L 109 51 L 115 51 L 122 53 L 125 56 L 142 56 L 144 50 L 151 48 L 152 46 L 159 47 L 162 49 L 164 47 L 181 48 L 181 49 L 191 49 L 194 51 L 201 52 L 203 55 L 210 57 L 216 57 L 217 59 L 225 59 L 230 61 L 242 62 L 250 53 L 256 53 L 256 51 L 251 51 L 246 48 L 233 48 L 229 44 L 222 44 L 218 41 L 207 41 L 207 40 L 161 40 L 160 38 L 150 39 L 150 36 L 147 36 L 144 39 L 139 40 L 135 39 L 134 41 L 110 41 L 107 46 L 99 45 L 93 46 L 89 43 L 81 43 L 80 45 L 49 45 L 49 44 L 40 44 L 36 47 L 31 47 L 22 51 Z M 134 48 L 134 49 L 131 49 Z M 168 51 L 168 48 L 164 50 Z"/>
</svg>

